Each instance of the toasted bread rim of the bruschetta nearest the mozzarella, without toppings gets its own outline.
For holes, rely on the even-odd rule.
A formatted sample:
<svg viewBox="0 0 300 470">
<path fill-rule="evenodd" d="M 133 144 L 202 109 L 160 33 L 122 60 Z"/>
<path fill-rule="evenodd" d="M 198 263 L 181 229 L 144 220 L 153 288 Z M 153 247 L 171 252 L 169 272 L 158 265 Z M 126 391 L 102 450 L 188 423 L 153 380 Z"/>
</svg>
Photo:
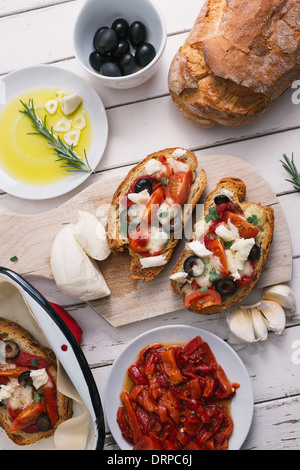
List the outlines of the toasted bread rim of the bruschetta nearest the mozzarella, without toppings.
<svg viewBox="0 0 300 470">
<path fill-rule="evenodd" d="M 161 155 L 164 155 L 166 158 L 171 157 L 173 152 L 177 150 L 176 148 L 167 148 L 160 150 L 158 152 L 154 152 L 148 155 L 145 159 L 143 159 L 138 165 L 130 170 L 127 177 L 124 181 L 119 185 L 117 188 L 111 203 L 111 208 L 108 214 L 108 221 L 107 221 L 107 240 L 108 245 L 111 251 L 115 254 L 122 254 L 124 252 L 129 251 L 132 261 L 131 261 L 131 277 L 133 279 L 140 279 L 145 281 L 152 280 L 155 276 L 157 276 L 160 271 L 164 268 L 164 266 L 155 266 L 151 268 L 142 268 L 140 263 L 140 255 L 133 252 L 128 244 L 127 237 L 120 235 L 119 233 L 119 212 L 120 212 L 120 200 L 121 198 L 127 193 L 132 183 L 139 177 L 145 174 L 145 165 L 151 159 L 157 159 Z M 206 187 L 206 173 L 203 169 L 201 169 L 197 173 L 197 157 L 194 153 L 184 150 L 185 155 L 180 158 L 181 161 L 186 162 L 189 164 L 193 175 L 194 181 L 190 190 L 189 198 L 186 202 L 186 207 L 188 210 L 183 212 L 182 217 L 182 225 L 184 226 L 191 215 L 192 209 L 195 207 L 195 204 L 199 201 L 201 195 L 203 194 L 205 187 Z M 178 239 L 174 238 L 172 235 L 168 241 L 168 244 L 163 250 L 163 255 L 168 262 L 173 254 L 173 250 L 178 243 Z"/>
</svg>

